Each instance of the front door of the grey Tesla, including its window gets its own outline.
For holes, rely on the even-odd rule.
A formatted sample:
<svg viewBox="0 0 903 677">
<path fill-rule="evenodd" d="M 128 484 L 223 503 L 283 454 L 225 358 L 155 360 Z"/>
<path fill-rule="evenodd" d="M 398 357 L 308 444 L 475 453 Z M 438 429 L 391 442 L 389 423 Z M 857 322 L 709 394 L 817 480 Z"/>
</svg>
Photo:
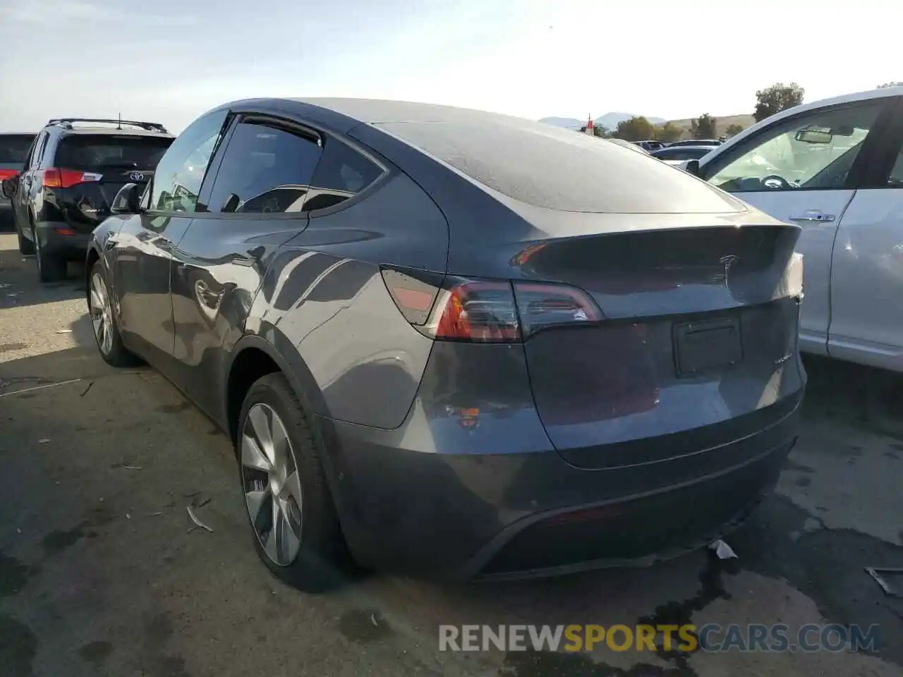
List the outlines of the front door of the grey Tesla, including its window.
<svg viewBox="0 0 903 677">
<path fill-rule="evenodd" d="M 197 209 L 209 159 L 222 134 L 226 111 L 192 123 L 157 164 L 146 209 L 129 218 L 116 236 L 114 298 L 126 346 L 171 372 L 172 254 Z"/>
</svg>

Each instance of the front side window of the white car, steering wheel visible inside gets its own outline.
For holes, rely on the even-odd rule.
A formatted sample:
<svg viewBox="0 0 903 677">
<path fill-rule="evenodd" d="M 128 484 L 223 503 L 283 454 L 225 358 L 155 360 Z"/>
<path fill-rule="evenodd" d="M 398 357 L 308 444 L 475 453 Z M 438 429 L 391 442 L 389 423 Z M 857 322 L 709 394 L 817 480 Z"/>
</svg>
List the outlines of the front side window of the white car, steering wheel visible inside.
<svg viewBox="0 0 903 677">
<path fill-rule="evenodd" d="M 709 182 L 729 192 L 842 189 L 883 102 L 796 116 L 753 137 Z"/>
</svg>

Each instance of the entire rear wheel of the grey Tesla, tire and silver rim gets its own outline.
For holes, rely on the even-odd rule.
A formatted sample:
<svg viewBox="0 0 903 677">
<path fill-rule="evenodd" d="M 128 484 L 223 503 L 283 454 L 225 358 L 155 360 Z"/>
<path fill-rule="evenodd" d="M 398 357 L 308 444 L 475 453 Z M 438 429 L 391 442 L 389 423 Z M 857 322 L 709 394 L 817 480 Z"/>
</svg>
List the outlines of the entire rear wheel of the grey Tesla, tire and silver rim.
<svg viewBox="0 0 903 677">
<path fill-rule="evenodd" d="M 282 374 L 264 376 L 248 390 L 236 452 L 255 550 L 266 567 L 305 592 L 340 586 L 355 567 L 319 443 Z"/>
</svg>

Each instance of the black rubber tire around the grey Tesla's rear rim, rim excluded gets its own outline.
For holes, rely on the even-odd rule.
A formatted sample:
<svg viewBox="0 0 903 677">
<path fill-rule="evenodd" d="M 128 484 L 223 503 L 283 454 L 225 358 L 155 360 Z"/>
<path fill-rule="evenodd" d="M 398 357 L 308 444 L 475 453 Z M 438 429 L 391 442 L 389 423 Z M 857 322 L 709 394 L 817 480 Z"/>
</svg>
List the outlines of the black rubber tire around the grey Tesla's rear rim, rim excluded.
<svg viewBox="0 0 903 677">
<path fill-rule="evenodd" d="M 250 387 L 242 404 L 238 418 L 236 454 L 238 459 L 239 487 L 245 502 L 245 470 L 242 467 L 241 445 L 248 413 L 256 404 L 264 404 L 278 414 L 282 420 L 288 440 L 294 467 L 301 481 L 302 533 L 297 556 L 290 563 L 281 566 L 266 554 L 249 511 L 246 509 L 247 524 L 255 551 L 266 568 L 284 583 L 309 593 L 325 592 L 339 588 L 349 576 L 358 572 L 345 536 L 341 531 L 330 489 L 323 473 L 321 458 L 323 452 L 311 424 L 304 413 L 303 405 L 294 394 L 288 381 L 280 373 L 263 376 Z M 247 503 L 246 503 L 247 505 Z"/>
</svg>

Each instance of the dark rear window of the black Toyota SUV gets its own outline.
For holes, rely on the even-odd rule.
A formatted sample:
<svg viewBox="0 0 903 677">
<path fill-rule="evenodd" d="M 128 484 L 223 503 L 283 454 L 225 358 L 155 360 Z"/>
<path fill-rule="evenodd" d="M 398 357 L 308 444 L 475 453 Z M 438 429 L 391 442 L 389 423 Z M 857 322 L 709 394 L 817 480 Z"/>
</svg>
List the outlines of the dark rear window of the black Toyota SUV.
<svg viewBox="0 0 903 677">
<path fill-rule="evenodd" d="M 168 137 L 78 134 L 64 137 L 54 164 L 68 169 L 122 167 L 151 171 L 172 144 Z"/>
</svg>

